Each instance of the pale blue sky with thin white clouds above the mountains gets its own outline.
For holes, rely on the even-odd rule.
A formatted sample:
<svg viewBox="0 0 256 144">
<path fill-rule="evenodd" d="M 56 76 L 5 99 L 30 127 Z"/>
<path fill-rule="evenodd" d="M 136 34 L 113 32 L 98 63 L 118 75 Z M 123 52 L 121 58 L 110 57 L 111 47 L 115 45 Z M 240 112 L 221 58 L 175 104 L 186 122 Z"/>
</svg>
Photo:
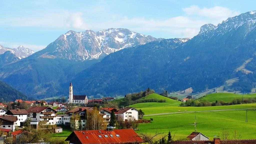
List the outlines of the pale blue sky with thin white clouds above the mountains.
<svg viewBox="0 0 256 144">
<path fill-rule="evenodd" d="M 127 28 L 156 38 L 186 38 L 200 27 L 256 10 L 236 0 L 0 1 L 0 44 L 39 51 L 69 30 Z"/>
</svg>

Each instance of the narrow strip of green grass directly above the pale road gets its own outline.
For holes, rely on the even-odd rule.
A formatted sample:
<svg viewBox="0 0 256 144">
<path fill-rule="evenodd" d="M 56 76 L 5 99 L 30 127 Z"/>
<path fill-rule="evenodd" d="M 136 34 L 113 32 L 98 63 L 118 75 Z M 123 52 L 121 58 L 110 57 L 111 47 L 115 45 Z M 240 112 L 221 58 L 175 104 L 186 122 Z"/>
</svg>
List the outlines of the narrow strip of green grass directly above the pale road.
<svg viewBox="0 0 256 144">
<path fill-rule="evenodd" d="M 136 107 L 134 107 L 136 108 Z M 211 107 L 151 107 L 141 108 L 145 115 L 159 114 L 168 112 L 180 111 L 202 111 L 202 110 L 219 110 L 219 109 L 245 109 L 245 108 L 256 108 L 256 104 L 241 104 L 241 105 L 229 105 L 229 106 L 211 106 Z"/>
</svg>

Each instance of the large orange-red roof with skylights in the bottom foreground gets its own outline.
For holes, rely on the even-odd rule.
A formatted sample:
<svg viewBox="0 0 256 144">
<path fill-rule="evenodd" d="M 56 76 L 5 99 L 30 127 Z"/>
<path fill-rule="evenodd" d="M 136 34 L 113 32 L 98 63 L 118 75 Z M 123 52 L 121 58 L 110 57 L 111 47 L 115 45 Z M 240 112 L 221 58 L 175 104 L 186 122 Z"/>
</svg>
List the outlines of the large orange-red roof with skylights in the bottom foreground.
<svg viewBox="0 0 256 144">
<path fill-rule="evenodd" d="M 84 134 L 83 134 L 84 133 Z M 76 135 L 82 144 L 95 144 L 95 143 L 142 143 L 143 140 L 138 136 L 138 134 L 133 129 L 114 129 L 113 131 L 107 130 L 83 130 L 83 131 L 73 131 L 66 141 L 70 140 Z M 99 137 L 101 135 L 101 137 Z M 105 137 L 107 135 L 108 137 Z M 111 137 L 112 135 L 113 137 Z M 117 137 L 116 135 L 119 135 Z M 87 138 L 88 137 L 88 138 Z"/>
</svg>

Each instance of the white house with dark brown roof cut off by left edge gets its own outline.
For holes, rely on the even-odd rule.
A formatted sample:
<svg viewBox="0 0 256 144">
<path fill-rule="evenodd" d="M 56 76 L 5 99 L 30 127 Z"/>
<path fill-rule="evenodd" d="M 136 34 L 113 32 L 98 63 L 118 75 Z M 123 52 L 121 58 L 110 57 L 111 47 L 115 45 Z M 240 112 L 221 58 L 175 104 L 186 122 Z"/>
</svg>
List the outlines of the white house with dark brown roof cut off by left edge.
<svg viewBox="0 0 256 144">
<path fill-rule="evenodd" d="M 11 131 L 14 131 L 16 121 L 17 121 L 16 116 L 11 116 L 11 115 L 0 116 L 0 124 L 1 124 L 0 128 L 10 129 Z"/>
</svg>

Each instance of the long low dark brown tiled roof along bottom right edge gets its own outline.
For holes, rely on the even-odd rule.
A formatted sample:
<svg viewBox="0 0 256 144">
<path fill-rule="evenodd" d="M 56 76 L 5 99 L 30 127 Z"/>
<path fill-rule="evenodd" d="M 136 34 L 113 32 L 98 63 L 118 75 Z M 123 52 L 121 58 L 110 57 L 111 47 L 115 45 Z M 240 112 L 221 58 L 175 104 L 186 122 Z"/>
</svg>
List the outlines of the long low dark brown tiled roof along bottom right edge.
<svg viewBox="0 0 256 144">
<path fill-rule="evenodd" d="M 214 144 L 213 140 L 181 140 L 171 141 L 170 144 Z M 255 144 L 256 139 L 245 139 L 245 140 L 220 140 L 220 144 Z"/>
</svg>

